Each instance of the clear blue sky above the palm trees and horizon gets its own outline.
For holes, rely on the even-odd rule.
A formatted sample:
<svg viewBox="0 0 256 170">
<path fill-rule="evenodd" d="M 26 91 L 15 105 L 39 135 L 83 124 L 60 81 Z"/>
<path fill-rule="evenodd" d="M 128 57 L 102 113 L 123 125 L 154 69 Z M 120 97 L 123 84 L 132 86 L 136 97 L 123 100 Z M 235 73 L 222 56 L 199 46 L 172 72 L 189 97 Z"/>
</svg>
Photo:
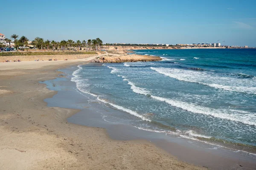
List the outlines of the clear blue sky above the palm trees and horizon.
<svg viewBox="0 0 256 170">
<path fill-rule="evenodd" d="M 0 33 L 33 40 L 256 47 L 256 0 L 12 0 L 1 7 Z"/>
</svg>

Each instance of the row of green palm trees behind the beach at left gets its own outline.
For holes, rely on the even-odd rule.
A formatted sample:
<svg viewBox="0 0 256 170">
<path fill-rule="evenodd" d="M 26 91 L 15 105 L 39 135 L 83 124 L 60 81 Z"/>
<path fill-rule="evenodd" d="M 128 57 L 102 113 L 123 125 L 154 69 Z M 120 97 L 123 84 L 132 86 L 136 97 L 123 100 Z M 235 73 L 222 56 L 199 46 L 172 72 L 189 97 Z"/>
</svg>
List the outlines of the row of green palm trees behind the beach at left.
<svg viewBox="0 0 256 170">
<path fill-rule="evenodd" d="M 14 42 L 15 42 L 15 47 L 20 47 L 20 46 L 23 46 L 23 47 L 27 47 L 28 42 L 29 42 L 29 39 L 25 36 L 22 36 L 20 37 L 20 39 L 18 40 L 19 36 L 16 35 L 16 34 L 13 34 L 11 36 L 12 39 L 14 39 Z M 7 39 L 6 38 L 6 42 L 9 43 L 9 46 L 11 46 L 11 42 L 12 40 L 10 39 Z M 86 48 L 86 51 L 88 50 L 89 48 L 89 51 L 90 50 L 94 50 L 94 51 L 101 51 L 102 50 L 102 40 L 100 40 L 99 38 L 96 38 L 95 40 L 77 40 L 76 42 L 73 41 L 73 40 L 61 40 L 60 42 L 57 42 L 57 41 L 54 41 L 54 40 L 44 40 L 43 38 L 40 38 L 40 37 L 36 37 L 32 43 L 30 43 L 30 45 L 34 45 L 34 48 L 38 48 L 38 49 L 52 49 L 53 51 L 55 50 L 81 50 L 83 47 L 83 49 L 85 50 Z"/>
</svg>

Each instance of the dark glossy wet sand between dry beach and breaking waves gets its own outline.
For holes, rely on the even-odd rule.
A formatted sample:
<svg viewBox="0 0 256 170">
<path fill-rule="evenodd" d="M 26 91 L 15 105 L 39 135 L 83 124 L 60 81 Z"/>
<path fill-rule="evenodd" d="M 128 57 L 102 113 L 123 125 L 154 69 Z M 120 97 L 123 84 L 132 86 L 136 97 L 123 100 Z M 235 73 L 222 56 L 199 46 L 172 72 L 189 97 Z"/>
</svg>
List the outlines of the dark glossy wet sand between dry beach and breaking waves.
<svg viewBox="0 0 256 170">
<path fill-rule="evenodd" d="M 62 72 L 67 73 L 67 78 L 62 77 L 44 82 L 47 84 L 47 88 L 58 91 L 58 94 L 52 98 L 45 99 L 49 107 L 77 108 L 81 110 L 79 113 L 68 118 L 68 122 L 77 125 L 105 128 L 111 139 L 115 140 L 147 140 L 180 160 L 209 167 L 210 169 L 255 169 L 255 156 L 253 158 L 251 155 L 243 152 L 236 152 L 236 150 L 180 138 L 180 136 L 140 130 L 132 125 L 121 123 L 118 120 L 115 121 L 115 119 L 113 121 L 106 119 L 116 114 L 125 117 L 128 113 L 108 105 L 102 105 L 99 102 L 92 102 L 95 101 L 93 96 L 77 91 L 75 88 L 76 83 L 70 81 L 70 74 L 76 69 L 78 68 L 62 69 Z M 72 98 L 69 98 L 68 96 L 71 95 Z"/>
</svg>

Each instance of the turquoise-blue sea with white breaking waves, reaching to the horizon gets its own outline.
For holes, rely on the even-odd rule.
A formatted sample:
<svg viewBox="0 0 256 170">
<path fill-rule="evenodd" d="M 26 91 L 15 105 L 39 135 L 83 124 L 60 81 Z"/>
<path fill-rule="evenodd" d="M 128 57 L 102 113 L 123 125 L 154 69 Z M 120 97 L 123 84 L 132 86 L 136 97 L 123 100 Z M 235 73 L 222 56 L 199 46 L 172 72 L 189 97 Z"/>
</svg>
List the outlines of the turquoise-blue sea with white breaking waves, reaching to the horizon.
<svg viewBox="0 0 256 170">
<path fill-rule="evenodd" d="M 79 91 L 127 114 L 108 122 L 256 146 L 256 49 L 138 50 L 160 62 L 80 65 Z"/>
</svg>

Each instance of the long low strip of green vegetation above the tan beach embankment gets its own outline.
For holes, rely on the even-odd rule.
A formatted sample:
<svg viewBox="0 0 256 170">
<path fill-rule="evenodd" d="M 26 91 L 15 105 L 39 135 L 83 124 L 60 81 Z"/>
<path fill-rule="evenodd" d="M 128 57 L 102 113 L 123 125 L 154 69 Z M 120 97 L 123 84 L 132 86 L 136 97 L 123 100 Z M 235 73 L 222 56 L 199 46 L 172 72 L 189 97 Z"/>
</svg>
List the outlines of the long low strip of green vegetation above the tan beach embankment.
<svg viewBox="0 0 256 170">
<path fill-rule="evenodd" d="M 76 54 L 97 54 L 97 53 L 95 51 L 8 52 L 8 53 L 0 53 L 0 56 L 76 55 Z"/>
</svg>

